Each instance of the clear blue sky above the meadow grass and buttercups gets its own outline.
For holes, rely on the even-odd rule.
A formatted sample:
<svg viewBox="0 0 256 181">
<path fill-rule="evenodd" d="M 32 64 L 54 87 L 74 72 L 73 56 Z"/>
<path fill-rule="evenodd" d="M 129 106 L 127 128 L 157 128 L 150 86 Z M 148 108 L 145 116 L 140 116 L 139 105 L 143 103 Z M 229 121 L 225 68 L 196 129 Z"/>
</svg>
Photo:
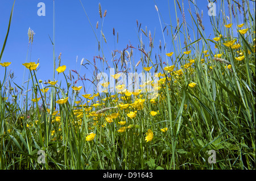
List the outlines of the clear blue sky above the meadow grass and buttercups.
<svg viewBox="0 0 256 181">
<path fill-rule="evenodd" d="M 3 41 L 5 40 L 7 27 L 9 23 L 9 17 L 11 8 L 14 1 L 2 0 L 0 1 L 0 48 L 2 49 Z M 46 16 L 38 16 L 37 12 L 39 2 L 44 2 L 46 5 Z M 103 32 L 106 37 L 107 44 L 103 42 L 104 54 L 107 60 L 111 61 L 111 52 L 115 49 L 123 50 L 128 44 L 131 43 L 133 47 L 138 48 L 139 39 L 142 31 L 138 33 L 137 20 L 141 23 L 141 28 L 145 31 L 151 31 L 151 35 L 154 36 L 154 49 L 156 53 L 159 53 L 159 40 L 162 41 L 163 47 L 163 36 L 160 28 L 158 14 L 155 9 L 155 5 L 158 6 L 160 15 L 162 16 L 162 26 L 164 23 L 170 24 L 170 14 L 167 0 L 109 0 L 109 1 L 88 1 L 81 0 L 84 5 L 85 11 L 89 16 L 90 22 L 97 33 L 97 37 L 100 40 L 100 28 L 102 19 L 98 13 L 98 3 L 101 3 L 102 13 L 107 10 L 106 17 L 104 18 Z M 176 26 L 176 16 L 174 2 L 169 1 L 171 10 L 171 21 L 173 26 Z M 179 1 L 180 4 L 182 1 Z M 196 1 L 199 12 L 203 10 L 203 24 L 205 27 L 205 34 L 208 37 L 212 32 L 212 27 L 209 27 L 209 16 L 208 16 L 208 1 L 197 0 Z M 176 4 L 177 6 L 177 4 Z M 192 6 L 192 3 L 191 3 Z M 218 8 L 219 5 L 217 5 Z M 179 16 L 180 22 L 182 22 L 182 16 L 177 8 L 177 15 Z M 191 16 L 188 12 L 188 1 L 184 1 L 185 17 L 188 24 L 191 24 Z M 192 13 L 195 16 L 195 9 L 192 7 Z M 218 13 L 218 12 L 217 12 Z M 99 22 L 99 29 L 96 30 L 96 23 Z M 82 58 L 86 58 L 93 61 L 93 56 L 98 56 L 98 46 L 96 37 L 90 27 L 89 21 L 82 9 L 79 0 L 72 1 L 55 1 L 55 53 L 56 63 L 59 61 L 57 57 L 60 52 L 61 65 L 67 65 L 68 74 L 69 69 L 80 70 L 80 61 Z M 28 28 L 31 28 L 35 32 L 34 43 L 28 50 Z M 113 37 L 113 28 L 115 28 L 115 37 Z M 183 30 L 182 30 L 183 31 Z M 192 30 L 191 39 L 193 38 Z M 119 42 L 117 44 L 117 32 L 119 34 Z M 169 28 L 169 33 L 171 33 Z M 24 66 L 22 65 L 26 61 L 27 50 L 28 57 L 27 62 L 38 61 L 40 63 L 40 69 L 38 71 L 38 79 L 48 81 L 53 78 L 53 47 L 49 37 L 53 39 L 53 1 L 52 0 L 16 0 L 14 5 L 13 20 L 11 22 L 11 28 L 5 52 L 3 53 L 1 62 L 12 62 L 7 70 L 14 71 L 15 79 L 14 82 L 18 85 L 22 85 Z M 143 34 L 142 34 L 143 36 Z M 165 31 L 166 36 L 166 31 Z M 213 38 L 214 35 L 210 36 Z M 143 36 L 144 39 L 144 36 Z M 101 39 L 101 42 L 104 41 Z M 143 40 L 146 46 L 148 45 L 147 39 Z M 167 52 L 174 51 L 170 36 L 166 36 L 167 41 Z M 182 41 L 182 40 L 181 40 Z M 183 41 L 182 41 L 183 42 Z M 147 49 L 148 50 L 148 49 Z M 141 52 L 138 50 L 134 52 L 135 64 L 141 58 Z M 163 58 L 165 52 L 162 51 Z M 78 58 L 77 58 L 78 57 Z M 76 63 L 77 58 L 77 63 Z M 152 60 L 155 60 L 155 53 L 152 54 Z M 111 64 L 112 65 L 112 64 Z M 0 79 L 3 79 L 4 68 L 0 67 Z M 81 68 L 81 74 L 86 73 L 86 78 L 91 78 L 92 75 L 89 73 L 93 70 L 86 70 L 84 67 Z M 26 71 L 27 77 L 28 71 Z M 57 73 L 57 72 L 56 72 Z M 59 75 L 59 79 L 63 78 L 63 75 Z M 25 79 L 26 81 L 26 79 Z M 90 84 L 90 82 L 88 82 Z M 78 83 L 77 86 L 82 85 Z M 14 86 L 14 85 L 13 85 Z M 87 87 L 89 88 L 89 86 Z"/>
</svg>

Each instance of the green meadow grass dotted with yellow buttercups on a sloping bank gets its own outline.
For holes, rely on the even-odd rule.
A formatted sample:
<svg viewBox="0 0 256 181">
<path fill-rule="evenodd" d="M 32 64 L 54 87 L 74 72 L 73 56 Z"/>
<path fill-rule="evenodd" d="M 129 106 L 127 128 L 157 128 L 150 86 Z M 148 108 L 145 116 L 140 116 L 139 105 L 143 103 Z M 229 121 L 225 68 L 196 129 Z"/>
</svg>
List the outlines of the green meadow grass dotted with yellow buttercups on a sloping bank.
<svg viewBox="0 0 256 181">
<path fill-rule="evenodd" d="M 61 56 L 56 68 L 54 36 L 51 82 L 36 77 L 39 62 L 24 62 L 30 74 L 24 90 L 24 86 L 14 83 L 13 75 L 7 74 L 12 64 L 1 62 L 5 77 L 0 81 L 0 168 L 255 169 L 255 9 L 249 6 L 255 2 L 228 0 L 226 8 L 221 1 L 222 11 L 209 16 L 214 39 L 205 35 L 196 4 L 189 3 L 189 7 L 195 7 L 195 15 L 189 10 L 193 22 L 190 25 L 184 16 L 179 22 L 177 11 L 184 13 L 183 3 L 174 1 L 179 25 L 176 28 L 173 22 L 170 27 L 162 27 L 165 23 L 161 23 L 156 6 L 163 37 L 167 36 L 163 47 L 159 46 L 160 51 L 164 49 L 164 56 L 156 57 L 156 61 L 151 54 L 154 36 L 137 22 L 139 32 L 150 43 L 144 45 L 138 36 L 141 59 L 136 62 L 133 53 L 137 48 L 131 45 L 113 51 L 112 62 L 106 61 L 102 46 L 106 39 L 102 28 L 97 37 L 97 23 L 93 31 L 102 56 L 96 56 L 97 61 L 81 62 L 81 68 L 88 64 L 94 68 L 91 79 L 82 77 L 80 71 L 68 72 L 66 66 L 60 65 Z M 236 24 L 226 22 L 227 10 Z M 103 26 L 106 14 L 101 5 L 99 13 Z M 13 11 L 10 23 L 12 14 Z M 238 26 L 241 14 L 243 22 Z M 187 26 L 193 28 L 192 34 Z M 54 27 L 53 8 L 53 35 Z M 167 29 L 171 35 L 164 35 Z M 233 36 L 234 31 L 238 32 L 237 37 Z M 32 34 L 30 30 L 29 39 Z M 118 43 L 114 30 L 113 36 Z M 174 52 L 167 52 L 167 38 L 171 39 Z M 181 39 L 185 40 L 185 47 Z M 168 62 L 163 61 L 166 58 Z M 102 70 L 97 62 L 102 64 Z M 112 93 L 109 85 L 104 85 L 106 92 L 97 92 L 97 75 L 110 68 L 111 63 L 117 74 L 135 73 L 140 66 L 145 73 L 158 73 L 158 94 L 149 99 L 150 92 Z M 64 83 L 54 82 L 60 76 Z M 82 93 L 84 82 L 92 83 L 95 91 Z M 38 161 L 39 150 L 45 153 L 45 163 Z M 213 161 L 211 150 L 216 153 L 214 163 L 209 162 Z"/>
</svg>

